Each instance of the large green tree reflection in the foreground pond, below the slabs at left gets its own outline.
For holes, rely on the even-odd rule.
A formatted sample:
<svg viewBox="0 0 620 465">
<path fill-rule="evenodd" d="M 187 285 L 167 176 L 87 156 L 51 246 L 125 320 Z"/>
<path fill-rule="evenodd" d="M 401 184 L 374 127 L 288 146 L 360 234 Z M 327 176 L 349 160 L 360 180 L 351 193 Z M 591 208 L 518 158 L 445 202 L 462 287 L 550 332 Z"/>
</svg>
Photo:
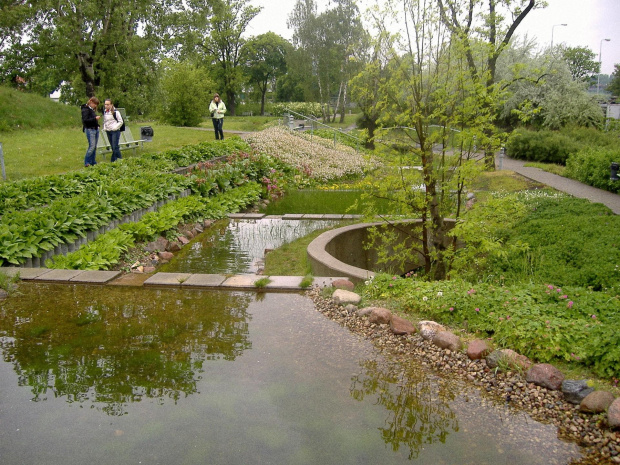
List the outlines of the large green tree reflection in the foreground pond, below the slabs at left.
<svg viewBox="0 0 620 465">
<path fill-rule="evenodd" d="M 142 399 L 196 392 L 205 360 L 251 348 L 251 294 L 34 286 L 0 307 L 0 348 L 33 401 L 102 402 L 111 415 Z M 92 295 L 97 294 L 97 295 Z"/>
</svg>

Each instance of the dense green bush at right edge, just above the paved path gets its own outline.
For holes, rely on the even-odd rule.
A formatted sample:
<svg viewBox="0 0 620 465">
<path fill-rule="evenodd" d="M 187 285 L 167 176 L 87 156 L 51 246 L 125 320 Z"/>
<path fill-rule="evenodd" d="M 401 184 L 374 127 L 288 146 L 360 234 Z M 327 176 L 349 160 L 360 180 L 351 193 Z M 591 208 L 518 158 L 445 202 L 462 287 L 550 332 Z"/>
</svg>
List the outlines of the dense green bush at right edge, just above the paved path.
<svg viewBox="0 0 620 465">
<path fill-rule="evenodd" d="M 620 183 L 609 179 L 611 163 L 619 160 L 620 149 L 585 147 L 569 157 L 566 176 L 599 189 L 620 192 Z"/>
</svg>

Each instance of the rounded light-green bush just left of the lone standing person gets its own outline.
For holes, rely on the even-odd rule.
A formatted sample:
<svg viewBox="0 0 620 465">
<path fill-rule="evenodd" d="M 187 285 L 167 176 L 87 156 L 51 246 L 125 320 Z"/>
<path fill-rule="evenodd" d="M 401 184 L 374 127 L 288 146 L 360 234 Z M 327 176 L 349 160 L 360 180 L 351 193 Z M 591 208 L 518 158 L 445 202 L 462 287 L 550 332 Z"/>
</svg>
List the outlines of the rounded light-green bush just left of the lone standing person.
<svg viewBox="0 0 620 465">
<path fill-rule="evenodd" d="M 161 117 L 175 126 L 198 126 L 215 84 L 189 62 L 168 61 L 161 77 Z"/>
</svg>

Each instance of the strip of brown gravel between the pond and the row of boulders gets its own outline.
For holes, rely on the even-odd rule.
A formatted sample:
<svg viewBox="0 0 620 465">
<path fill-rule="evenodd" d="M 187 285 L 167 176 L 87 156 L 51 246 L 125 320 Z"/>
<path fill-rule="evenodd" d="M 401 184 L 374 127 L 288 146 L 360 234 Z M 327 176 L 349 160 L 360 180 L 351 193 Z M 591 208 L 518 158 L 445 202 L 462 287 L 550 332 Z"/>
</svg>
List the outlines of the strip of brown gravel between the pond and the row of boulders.
<svg viewBox="0 0 620 465">
<path fill-rule="evenodd" d="M 574 441 L 584 448 L 584 457 L 573 463 L 620 464 L 620 432 L 609 430 L 604 414 L 582 413 L 579 406 L 566 402 L 559 391 L 528 383 L 518 372 L 490 369 L 484 360 L 469 360 L 462 351 L 440 349 L 418 334 L 394 335 L 389 325 L 371 324 L 355 310 L 347 310 L 332 299 L 323 298 L 318 289 L 308 294 L 317 310 L 372 341 L 384 356 L 402 363 L 415 358 L 441 376 L 467 380 L 494 401 L 525 411 L 536 421 L 555 425 L 559 438 Z"/>
</svg>

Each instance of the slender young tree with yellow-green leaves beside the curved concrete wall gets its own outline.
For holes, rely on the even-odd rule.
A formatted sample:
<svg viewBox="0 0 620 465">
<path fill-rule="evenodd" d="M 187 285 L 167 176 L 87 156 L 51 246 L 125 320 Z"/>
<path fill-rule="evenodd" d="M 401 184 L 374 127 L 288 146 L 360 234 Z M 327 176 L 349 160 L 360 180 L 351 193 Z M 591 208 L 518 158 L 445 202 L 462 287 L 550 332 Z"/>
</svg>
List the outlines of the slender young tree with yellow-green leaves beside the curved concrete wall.
<svg viewBox="0 0 620 465">
<path fill-rule="evenodd" d="M 373 195 L 392 201 L 395 213 L 421 220 L 411 245 L 395 246 L 390 260 L 417 255 L 427 276 L 444 279 L 457 242 L 446 218 L 461 216 L 466 186 L 482 167 L 476 145 L 497 145 L 490 102 L 499 96 L 472 79 L 466 45 L 441 22 L 436 1 L 399 0 L 389 7 L 404 30 L 381 58 L 387 70 L 379 75 L 376 110 L 377 139 L 395 148 L 393 175 Z M 395 235 L 393 227 L 376 234 L 384 241 Z"/>
</svg>

